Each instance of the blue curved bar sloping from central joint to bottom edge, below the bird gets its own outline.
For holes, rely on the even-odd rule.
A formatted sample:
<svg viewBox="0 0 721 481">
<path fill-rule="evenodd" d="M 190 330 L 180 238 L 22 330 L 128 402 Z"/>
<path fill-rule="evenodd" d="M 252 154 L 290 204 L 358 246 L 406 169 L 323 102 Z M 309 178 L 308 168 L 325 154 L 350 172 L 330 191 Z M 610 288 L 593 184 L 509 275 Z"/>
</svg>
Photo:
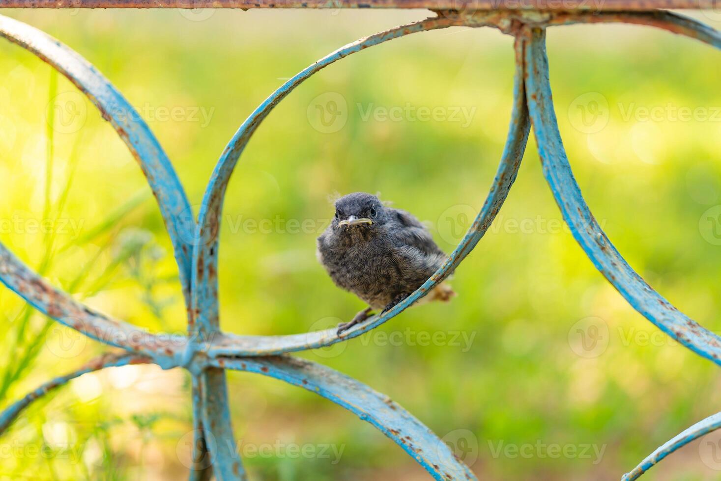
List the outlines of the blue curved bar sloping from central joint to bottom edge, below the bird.
<svg viewBox="0 0 721 481">
<path fill-rule="evenodd" d="M 395 441 L 436 480 L 475 480 L 442 439 L 388 396 L 352 377 L 292 356 L 213 359 L 211 365 L 274 377 L 321 395 L 368 421 Z"/>
</svg>

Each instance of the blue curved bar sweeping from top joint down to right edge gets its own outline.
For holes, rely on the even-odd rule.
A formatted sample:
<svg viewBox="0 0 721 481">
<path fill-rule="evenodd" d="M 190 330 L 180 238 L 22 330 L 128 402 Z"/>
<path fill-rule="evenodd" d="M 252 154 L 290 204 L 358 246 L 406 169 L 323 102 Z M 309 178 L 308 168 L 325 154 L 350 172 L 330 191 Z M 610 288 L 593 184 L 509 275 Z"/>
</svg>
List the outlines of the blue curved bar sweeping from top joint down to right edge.
<svg viewBox="0 0 721 481">
<path fill-rule="evenodd" d="M 526 32 L 528 33 L 528 32 Z M 681 313 L 655 292 L 616 250 L 583 200 L 556 122 L 544 30 L 531 30 L 526 48 L 526 94 L 544 176 L 573 236 L 596 269 L 635 310 L 696 354 L 721 364 L 721 337 Z"/>
</svg>

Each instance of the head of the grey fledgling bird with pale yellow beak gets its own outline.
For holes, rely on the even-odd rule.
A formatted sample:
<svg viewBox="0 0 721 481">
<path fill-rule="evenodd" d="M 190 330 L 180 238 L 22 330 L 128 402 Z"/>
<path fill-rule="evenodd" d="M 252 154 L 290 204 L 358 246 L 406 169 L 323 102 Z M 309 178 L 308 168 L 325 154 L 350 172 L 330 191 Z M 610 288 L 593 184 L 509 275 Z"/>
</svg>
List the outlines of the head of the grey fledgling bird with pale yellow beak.
<svg viewBox="0 0 721 481">
<path fill-rule="evenodd" d="M 383 225 L 386 207 L 372 194 L 353 192 L 335 201 L 333 227 L 345 233 L 367 233 Z"/>
</svg>

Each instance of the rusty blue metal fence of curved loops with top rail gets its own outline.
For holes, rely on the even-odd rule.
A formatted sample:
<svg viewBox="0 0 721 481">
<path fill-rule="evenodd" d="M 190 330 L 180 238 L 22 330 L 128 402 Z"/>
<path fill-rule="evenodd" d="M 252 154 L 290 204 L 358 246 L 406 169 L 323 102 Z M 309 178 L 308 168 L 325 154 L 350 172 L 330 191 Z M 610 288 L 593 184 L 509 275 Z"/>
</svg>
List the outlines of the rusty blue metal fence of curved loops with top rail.
<svg viewBox="0 0 721 481">
<path fill-rule="evenodd" d="M 288 353 L 345 342 L 379 327 L 423 297 L 456 269 L 479 242 L 500 210 L 518 173 L 533 127 L 544 176 L 572 234 L 596 268 L 630 305 L 661 331 L 700 356 L 721 364 L 721 337 L 707 331 L 655 292 L 623 259 L 585 203 L 574 179 L 556 122 L 549 85 L 545 32 L 566 24 L 629 23 L 657 27 L 721 48 L 721 33 L 694 19 L 659 8 L 713 9 L 718 0 L 0 0 L 2 7 L 50 8 L 339 8 L 433 9 L 434 17 L 394 27 L 335 50 L 293 76 L 260 104 L 231 138 L 219 159 L 196 222 L 182 185 L 146 122 L 101 73 L 53 37 L 0 16 L 0 36 L 34 53 L 63 73 L 110 121 L 131 150 L 157 199 L 172 240 L 188 318 L 187 336 L 152 334 L 76 302 L 22 264 L 0 244 L 0 280 L 68 328 L 107 344 L 112 351 L 65 376 L 52 379 L 0 414 L 0 433 L 33 400 L 70 379 L 105 367 L 154 363 L 182 367 L 193 376 L 194 452 L 190 480 L 247 478 L 235 446 L 225 369 L 275 377 L 326 397 L 368 421 L 399 444 L 437 480 L 475 479 L 451 449 L 412 414 L 361 382 Z M 516 73 L 508 138 L 482 209 L 441 269 L 383 315 L 349 331 L 336 329 L 290 336 L 239 336 L 220 330 L 218 319 L 218 234 L 226 186 L 260 122 L 306 78 L 360 50 L 416 32 L 448 27 L 495 27 L 515 37 Z M 699 421 L 653 451 L 623 480 L 635 480 L 676 449 L 721 427 L 721 413 Z"/>
</svg>

